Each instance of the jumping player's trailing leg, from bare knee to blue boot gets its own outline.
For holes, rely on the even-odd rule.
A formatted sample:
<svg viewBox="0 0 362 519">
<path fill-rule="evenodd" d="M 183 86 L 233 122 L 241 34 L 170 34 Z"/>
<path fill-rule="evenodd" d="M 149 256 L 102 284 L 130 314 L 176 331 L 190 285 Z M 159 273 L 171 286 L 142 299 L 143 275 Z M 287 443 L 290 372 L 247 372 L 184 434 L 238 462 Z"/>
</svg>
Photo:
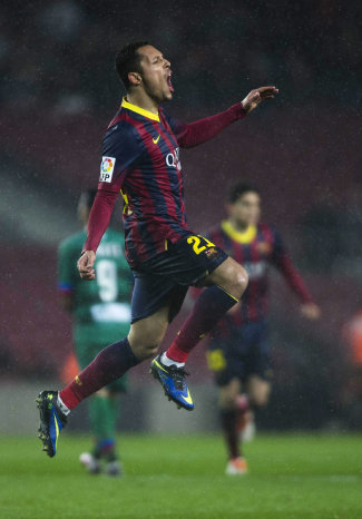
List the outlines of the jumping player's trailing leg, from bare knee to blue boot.
<svg viewBox="0 0 362 519">
<path fill-rule="evenodd" d="M 128 337 L 105 347 L 65 389 L 60 392 L 42 391 L 39 394 L 39 438 L 48 456 L 56 454 L 59 433 L 72 409 L 156 353 L 165 335 L 168 316 L 168 306 L 163 306 L 153 315 L 135 322 Z"/>
</svg>

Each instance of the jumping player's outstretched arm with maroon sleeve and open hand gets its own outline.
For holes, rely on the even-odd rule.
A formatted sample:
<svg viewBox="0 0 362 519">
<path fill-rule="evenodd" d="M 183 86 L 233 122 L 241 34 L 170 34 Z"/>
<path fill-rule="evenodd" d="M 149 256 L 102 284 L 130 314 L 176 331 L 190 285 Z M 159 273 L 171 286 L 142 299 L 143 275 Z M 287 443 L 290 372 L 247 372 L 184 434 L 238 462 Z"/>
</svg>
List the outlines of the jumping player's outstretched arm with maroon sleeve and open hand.
<svg viewBox="0 0 362 519">
<path fill-rule="evenodd" d="M 168 123 L 176 134 L 177 141 L 182 148 L 192 148 L 199 144 L 206 143 L 224 128 L 242 119 L 253 111 L 261 102 L 266 99 L 273 99 L 278 89 L 276 87 L 261 87 L 252 90 L 242 102 L 233 105 L 225 111 L 211 117 L 205 117 L 194 123 L 180 123 L 168 117 Z"/>
</svg>

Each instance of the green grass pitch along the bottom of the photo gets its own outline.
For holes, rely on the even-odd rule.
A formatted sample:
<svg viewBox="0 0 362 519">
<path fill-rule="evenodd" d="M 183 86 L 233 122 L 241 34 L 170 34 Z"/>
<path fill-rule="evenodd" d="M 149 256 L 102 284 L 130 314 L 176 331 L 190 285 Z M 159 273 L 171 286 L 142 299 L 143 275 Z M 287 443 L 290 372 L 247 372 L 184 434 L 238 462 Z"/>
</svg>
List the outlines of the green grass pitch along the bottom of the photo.
<svg viewBox="0 0 362 519">
<path fill-rule="evenodd" d="M 0 438 L 1 519 L 361 519 L 362 438 L 258 435 L 251 472 L 224 476 L 216 435 L 119 438 L 126 476 L 86 474 L 89 440 L 63 433 L 56 458 L 36 438 Z"/>
</svg>

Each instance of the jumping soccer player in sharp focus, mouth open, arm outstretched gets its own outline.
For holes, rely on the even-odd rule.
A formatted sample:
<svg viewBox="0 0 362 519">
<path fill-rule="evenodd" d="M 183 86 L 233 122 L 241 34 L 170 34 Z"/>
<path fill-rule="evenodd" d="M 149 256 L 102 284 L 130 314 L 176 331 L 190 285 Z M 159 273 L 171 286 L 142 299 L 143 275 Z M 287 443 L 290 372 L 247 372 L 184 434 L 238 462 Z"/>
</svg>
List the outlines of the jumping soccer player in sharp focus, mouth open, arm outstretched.
<svg viewBox="0 0 362 519">
<path fill-rule="evenodd" d="M 188 286 L 198 284 L 207 288 L 166 354 L 150 365 L 166 395 L 178 407 L 194 409 L 185 379 L 186 359 L 247 286 L 247 274 L 237 262 L 187 228 L 179 148 L 215 137 L 273 98 L 277 89 L 252 90 L 226 111 L 184 124 L 160 108 L 172 100 L 174 88 L 170 63 L 157 49 L 147 42 L 128 45 L 117 55 L 116 69 L 127 96 L 104 138 L 98 194 L 78 268 L 84 280 L 95 278 L 97 247 L 120 192 L 126 257 L 135 276 L 131 325 L 128 336 L 102 350 L 62 391 L 40 393 L 40 438 L 51 457 L 70 411 L 153 356 Z"/>
</svg>

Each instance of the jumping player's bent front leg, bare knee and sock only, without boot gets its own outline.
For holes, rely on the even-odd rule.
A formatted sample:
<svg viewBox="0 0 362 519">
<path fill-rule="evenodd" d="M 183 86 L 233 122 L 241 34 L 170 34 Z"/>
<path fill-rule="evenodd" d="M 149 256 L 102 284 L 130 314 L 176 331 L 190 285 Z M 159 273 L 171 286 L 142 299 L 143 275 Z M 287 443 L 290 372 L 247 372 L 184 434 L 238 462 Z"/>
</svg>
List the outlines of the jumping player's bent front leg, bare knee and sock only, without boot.
<svg viewBox="0 0 362 519">
<path fill-rule="evenodd" d="M 185 363 L 189 352 L 215 323 L 236 304 L 247 286 L 247 273 L 226 257 L 199 286 L 206 286 L 178 335 L 166 352 L 170 361 Z"/>
</svg>

